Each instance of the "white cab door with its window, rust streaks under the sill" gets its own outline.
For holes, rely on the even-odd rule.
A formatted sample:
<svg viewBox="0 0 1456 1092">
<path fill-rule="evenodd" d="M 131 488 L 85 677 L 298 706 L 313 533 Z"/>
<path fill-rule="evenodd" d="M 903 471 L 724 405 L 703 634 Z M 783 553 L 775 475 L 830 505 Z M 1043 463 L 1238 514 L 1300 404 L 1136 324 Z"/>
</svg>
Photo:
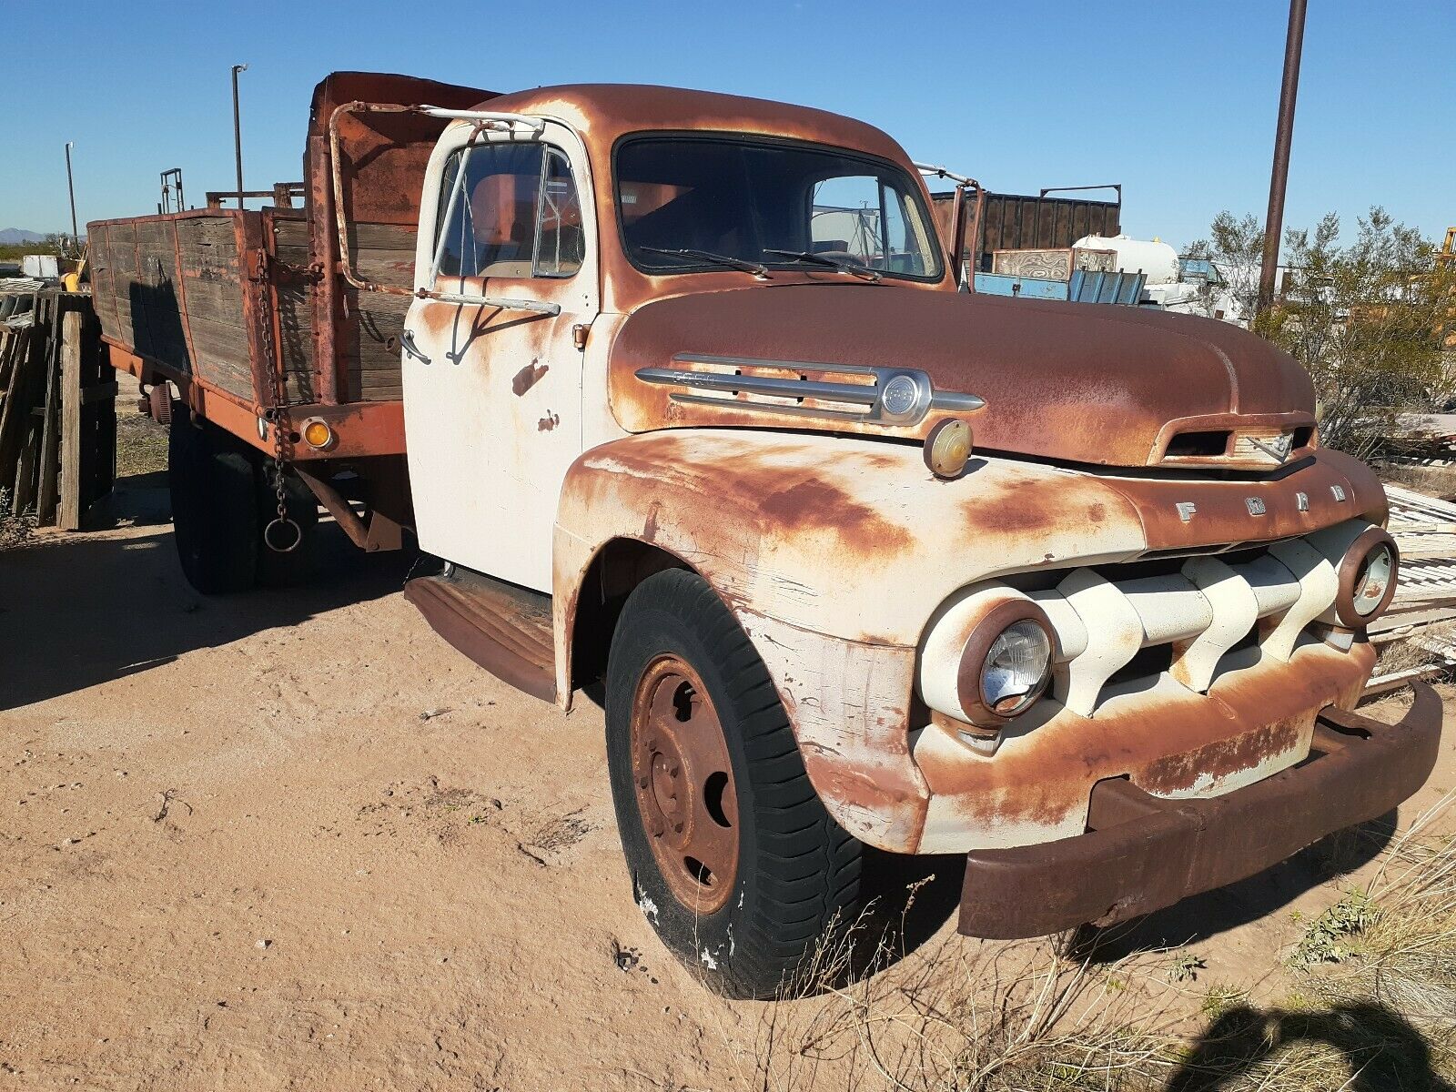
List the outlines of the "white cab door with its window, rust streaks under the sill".
<svg viewBox="0 0 1456 1092">
<path fill-rule="evenodd" d="M 427 172 L 405 320 L 405 437 L 422 549 L 550 591 L 561 483 L 581 454 L 597 233 L 585 149 L 543 122 L 459 125 Z M 579 328 L 579 332 L 578 332 Z"/>
</svg>

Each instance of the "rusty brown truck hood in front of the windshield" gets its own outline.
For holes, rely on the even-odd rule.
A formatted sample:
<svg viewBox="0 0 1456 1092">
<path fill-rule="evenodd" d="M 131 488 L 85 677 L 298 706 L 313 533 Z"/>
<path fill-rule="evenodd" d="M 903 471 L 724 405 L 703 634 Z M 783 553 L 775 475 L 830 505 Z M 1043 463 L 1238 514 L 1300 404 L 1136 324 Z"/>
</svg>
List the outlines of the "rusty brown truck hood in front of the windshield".
<svg viewBox="0 0 1456 1092">
<path fill-rule="evenodd" d="M 977 447 L 1107 466 L 1162 464 L 1175 434 L 1278 434 L 1312 425 L 1315 411 L 1309 376 L 1291 357 L 1223 322 L 836 281 L 677 296 L 635 310 L 612 347 L 612 408 L 622 427 L 923 435 L 936 419 L 932 411 L 917 427 L 885 428 L 741 400 L 713 405 L 638 376 L 684 361 L 702 367 L 693 358 L 703 357 L 751 361 L 747 374 L 761 364 L 807 379 L 836 367 L 919 368 L 936 392 L 986 400 L 970 418 Z M 1188 462 L 1200 460 L 1178 459 Z"/>
</svg>

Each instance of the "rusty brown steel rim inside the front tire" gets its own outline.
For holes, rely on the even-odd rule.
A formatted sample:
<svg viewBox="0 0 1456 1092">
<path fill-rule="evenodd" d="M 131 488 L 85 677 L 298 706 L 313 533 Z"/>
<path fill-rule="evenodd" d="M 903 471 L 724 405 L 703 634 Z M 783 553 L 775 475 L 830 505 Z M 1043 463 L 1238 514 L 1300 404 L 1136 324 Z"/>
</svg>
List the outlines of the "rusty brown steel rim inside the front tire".
<svg viewBox="0 0 1456 1092">
<path fill-rule="evenodd" d="M 638 680 L 632 788 L 668 890 L 695 913 L 722 909 L 738 878 L 732 761 L 708 689 L 678 657 L 658 657 Z"/>
</svg>

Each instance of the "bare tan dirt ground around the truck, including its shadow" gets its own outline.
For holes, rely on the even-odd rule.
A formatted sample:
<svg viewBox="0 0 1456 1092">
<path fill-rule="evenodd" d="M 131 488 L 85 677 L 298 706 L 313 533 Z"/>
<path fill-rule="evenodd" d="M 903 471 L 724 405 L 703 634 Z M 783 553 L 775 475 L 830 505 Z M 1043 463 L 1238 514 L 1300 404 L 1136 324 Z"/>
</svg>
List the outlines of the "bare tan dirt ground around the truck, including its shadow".
<svg viewBox="0 0 1456 1092">
<path fill-rule="evenodd" d="M 772 1006 L 706 993 L 632 903 L 598 709 L 475 668 L 341 536 L 307 590 L 194 594 L 163 485 L 0 553 L 0 1089 L 776 1086 Z M 1453 785 L 1447 737 L 1402 820 Z M 1278 997 L 1379 842 L 1125 945 L 1188 945 L 1190 1018 Z M 945 945 L 1006 948 L 945 925 L 907 962 Z"/>
</svg>

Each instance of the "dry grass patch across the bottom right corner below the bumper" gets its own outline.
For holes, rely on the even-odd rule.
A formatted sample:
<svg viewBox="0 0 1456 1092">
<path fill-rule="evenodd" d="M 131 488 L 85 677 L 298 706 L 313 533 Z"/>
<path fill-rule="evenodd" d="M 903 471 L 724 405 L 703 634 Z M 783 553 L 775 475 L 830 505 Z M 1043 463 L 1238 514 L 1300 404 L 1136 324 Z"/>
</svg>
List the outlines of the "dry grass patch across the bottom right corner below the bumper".
<svg viewBox="0 0 1456 1092">
<path fill-rule="evenodd" d="M 849 930 L 763 1009 L 753 1083 L 763 1092 L 1450 1092 L 1456 837 L 1434 834 L 1433 823 L 1453 796 L 1389 843 L 1369 887 L 1309 923 L 1287 967 L 1249 968 L 1249 983 L 1286 976 L 1280 1005 L 1257 1008 L 1241 984 L 1224 983 L 1200 1006 L 1169 974 L 1166 952 L 1098 964 L 1047 941 L 958 936 L 903 961 L 877 946 L 868 964 L 878 973 L 843 986 L 866 962 Z M 1197 1034 L 1187 1035 L 1191 1024 Z"/>
</svg>

